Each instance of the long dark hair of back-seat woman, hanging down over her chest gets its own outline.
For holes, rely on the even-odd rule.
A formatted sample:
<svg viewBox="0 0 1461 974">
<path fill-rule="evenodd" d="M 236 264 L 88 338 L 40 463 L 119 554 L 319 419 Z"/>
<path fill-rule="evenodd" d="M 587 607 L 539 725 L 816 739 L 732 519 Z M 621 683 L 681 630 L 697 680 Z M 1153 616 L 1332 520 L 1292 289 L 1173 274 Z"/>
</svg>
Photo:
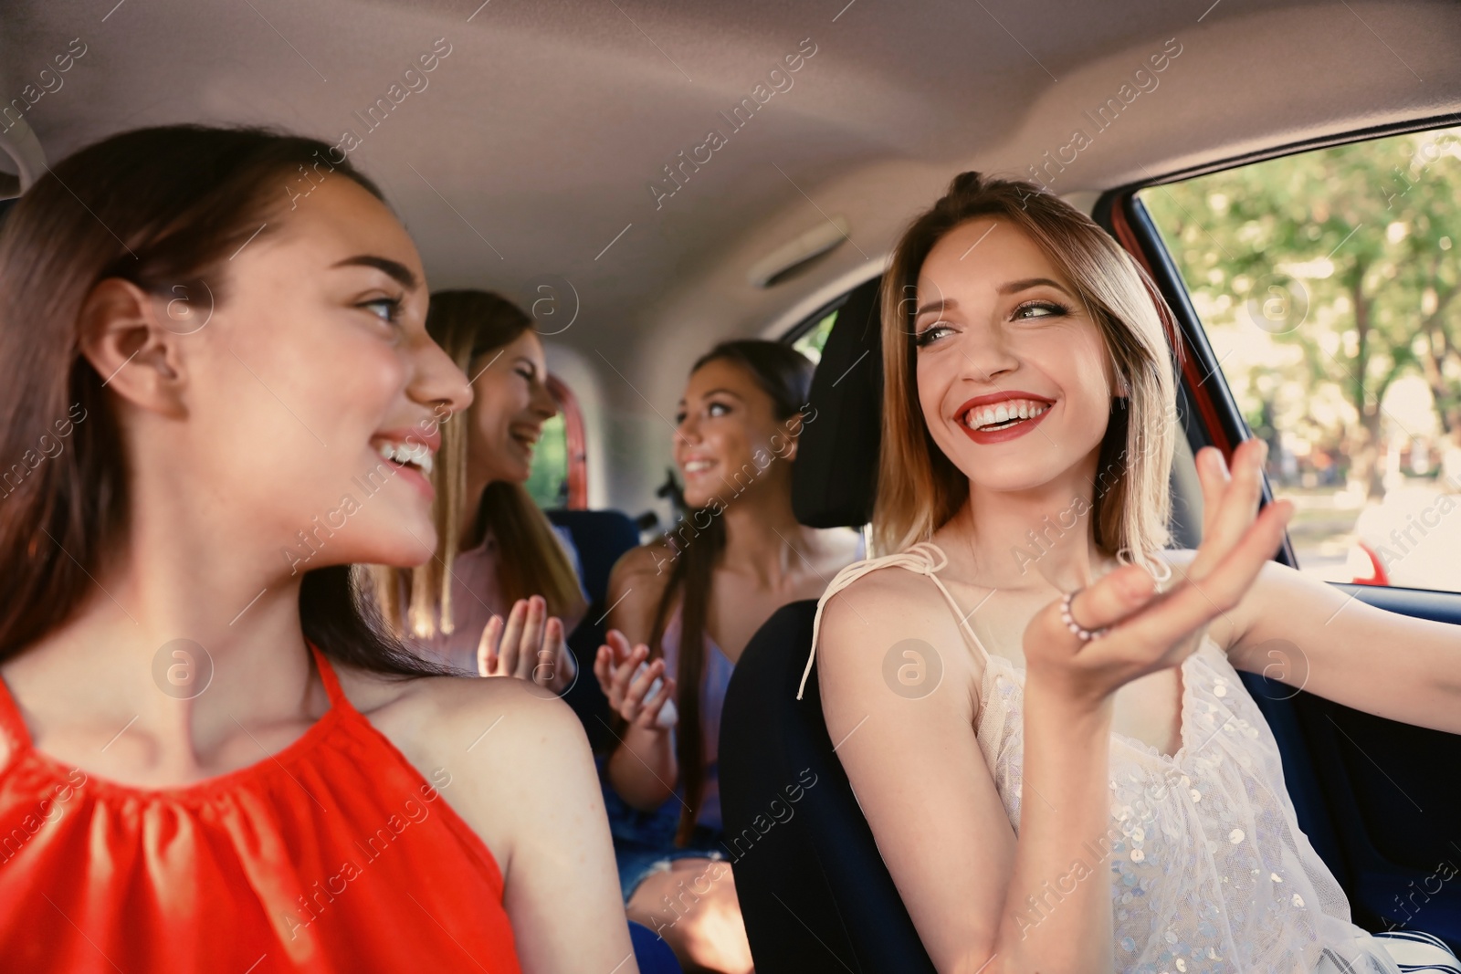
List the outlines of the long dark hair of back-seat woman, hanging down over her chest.
<svg viewBox="0 0 1461 974">
<path fill-rule="evenodd" d="M 710 362 L 732 362 L 744 368 L 761 391 L 770 396 L 776 419 L 790 419 L 806 409 L 814 367 L 790 345 L 755 339 L 722 342 L 695 361 L 690 369 L 691 375 Z M 695 819 L 700 818 L 706 791 L 706 740 L 700 726 L 700 698 L 704 692 L 701 685 L 706 675 L 706 624 L 710 616 L 714 570 L 726 548 L 725 521 L 717 514 L 719 511 L 710 507 L 681 514 L 681 523 L 690 520 L 694 533 L 685 539 L 681 530 L 675 567 L 655 609 L 655 625 L 649 638 L 650 659 L 662 657 L 665 628 L 678 599 L 679 662 L 675 666 L 678 686 L 675 707 L 679 711 L 679 723 L 675 727 L 675 759 L 679 764 L 679 780 L 685 793 L 679 829 L 675 835 L 675 843 L 679 845 L 687 844 L 695 831 Z M 700 527 L 703 521 L 709 521 L 706 527 Z"/>
</svg>

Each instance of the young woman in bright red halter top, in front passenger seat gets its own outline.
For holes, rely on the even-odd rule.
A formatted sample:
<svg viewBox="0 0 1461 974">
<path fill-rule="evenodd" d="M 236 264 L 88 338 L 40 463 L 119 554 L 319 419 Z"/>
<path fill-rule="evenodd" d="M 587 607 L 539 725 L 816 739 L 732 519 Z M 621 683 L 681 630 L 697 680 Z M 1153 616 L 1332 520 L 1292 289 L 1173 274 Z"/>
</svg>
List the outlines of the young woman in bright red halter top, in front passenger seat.
<svg viewBox="0 0 1461 974">
<path fill-rule="evenodd" d="M 636 968 L 579 721 L 434 676 L 413 565 L 470 402 L 324 143 L 124 133 L 0 232 L 0 958 L 25 971 Z"/>
</svg>

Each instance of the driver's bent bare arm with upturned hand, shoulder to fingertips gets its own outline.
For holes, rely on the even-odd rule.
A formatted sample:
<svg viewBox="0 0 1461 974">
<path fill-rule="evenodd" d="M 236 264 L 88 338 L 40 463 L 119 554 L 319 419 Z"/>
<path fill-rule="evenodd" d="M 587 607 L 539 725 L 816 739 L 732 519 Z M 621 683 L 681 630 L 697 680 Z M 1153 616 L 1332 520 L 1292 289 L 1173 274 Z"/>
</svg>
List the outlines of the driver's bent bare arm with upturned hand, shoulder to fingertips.
<svg viewBox="0 0 1461 974">
<path fill-rule="evenodd" d="M 1278 546 L 1292 507 L 1254 517 L 1262 453 L 1239 450 L 1239 473 L 1208 502 L 1202 548 L 1172 591 L 1157 596 L 1143 570 L 1125 567 L 1072 605 L 1083 625 L 1110 626 L 1102 638 L 1071 635 L 1059 603 L 1030 621 L 1017 838 L 974 739 L 977 664 L 964 662 L 957 621 L 932 586 L 890 568 L 828 603 L 820 653 L 828 732 L 939 971 L 1112 970 L 1102 856 L 1112 694 L 1189 656 Z M 947 667 L 945 683 L 918 699 L 884 679 L 888 653 L 910 637 Z"/>
</svg>

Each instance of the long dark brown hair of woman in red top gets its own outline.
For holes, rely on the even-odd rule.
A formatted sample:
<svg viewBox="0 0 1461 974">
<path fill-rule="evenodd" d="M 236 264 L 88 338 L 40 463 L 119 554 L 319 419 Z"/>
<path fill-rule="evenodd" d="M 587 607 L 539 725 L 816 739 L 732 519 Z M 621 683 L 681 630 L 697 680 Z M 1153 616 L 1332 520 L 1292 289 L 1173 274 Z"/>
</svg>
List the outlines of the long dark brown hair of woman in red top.
<svg viewBox="0 0 1461 974">
<path fill-rule="evenodd" d="M 263 129 L 167 126 L 121 133 L 47 171 L 0 231 L 0 660 L 70 618 L 105 555 L 127 543 L 127 457 L 102 377 L 80 353 L 92 289 L 120 277 L 167 301 L 228 301 L 229 254 L 327 177 L 380 190 L 324 142 Z M 294 190 L 298 196 L 298 190 Z M 63 432 L 57 418 L 69 416 Z M 54 421 L 54 422 L 53 422 Z M 54 428 L 53 428 L 54 426 Z M 31 464 L 37 444 L 69 448 Z M 226 556 L 226 552 L 221 553 Z M 381 673 L 441 672 L 378 634 L 349 565 L 304 574 L 300 624 L 327 656 Z"/>
</svg>

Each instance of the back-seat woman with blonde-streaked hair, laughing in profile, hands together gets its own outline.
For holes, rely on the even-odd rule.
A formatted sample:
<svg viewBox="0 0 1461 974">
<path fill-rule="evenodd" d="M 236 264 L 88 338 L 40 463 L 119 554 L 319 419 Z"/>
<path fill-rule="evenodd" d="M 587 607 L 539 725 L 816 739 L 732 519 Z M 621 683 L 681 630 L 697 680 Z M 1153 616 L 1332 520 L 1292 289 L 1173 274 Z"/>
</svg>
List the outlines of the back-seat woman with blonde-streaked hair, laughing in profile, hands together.
<svg viewBox="0 0 1461 974">
<path fill-rule="evenodd" d="M 558 412 L 543 345 L 530 317 L 487 291 L 431 295 L 427 334 L 470 377 L 473 399 L 441 429 L 431 472 L 435 555 L 415 568 L 375 567 L 374 599 L 392 632 L 422 656 L 561 695 L 577 676 L 565 634 L 587 597 L 573 537 L 523 486 L 542 426 Z"/>
</svg>

